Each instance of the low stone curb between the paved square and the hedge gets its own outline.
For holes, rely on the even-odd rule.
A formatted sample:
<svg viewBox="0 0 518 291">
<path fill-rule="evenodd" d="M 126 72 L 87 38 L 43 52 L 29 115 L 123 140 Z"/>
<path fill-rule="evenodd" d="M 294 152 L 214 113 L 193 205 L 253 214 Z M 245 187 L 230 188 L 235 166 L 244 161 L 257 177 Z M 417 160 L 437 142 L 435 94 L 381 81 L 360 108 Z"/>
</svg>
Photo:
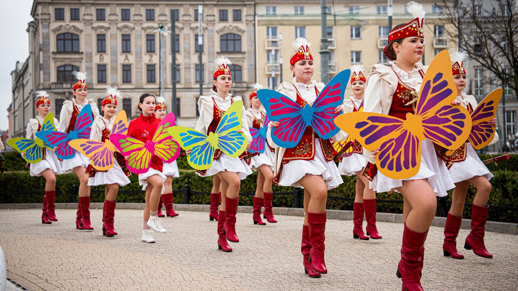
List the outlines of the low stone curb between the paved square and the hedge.
<svg viewBox="0 0 518 291">
<path fill-rule="evenodd" d="M 55 203 L 56 209 L 77 209 L 77 203 Z M 145 203 L 117 203 L 117 209 L 136 209 L 143 210 Z M 41 208 L 41 203 L 5 203 L 0 204 L 0 209 L 37 209 Z M 103 209 L 102 202 L 91 202 L 91 209 Z M 165 208 L 163 208 L 165 209 Z M 209 212 L 209 205 L 200 204 L 176 204 L 175 210 L 177 211 L 196 211 L 196 212 Z M 237 212 L 241 213 L 252 213 L 251 206 L 239 206 Z M 304 209 L 302 208 L 285 208 L 285 207 L 274 207 L 274 214 L 277 215 L 290 215 L 290 216 L 304 216 Z M 350 210 L 327 210 L 327 219 L 337 220 L 352 220 L 353 212 Z M 396 213 L 376 213 L 376 220 L 381 222 L 392 222 L 392 223 L 403 223 L 403 214 Z M 434 218 L 431 223 L 432 226 L 444 227 L 446 223 L 446 217 Z M 471 220 L 463 219 L 463 229 L 470 229 Z M 496 222 L 488 221 L 485 226 L 485 231 L 500 232 L 502 234 L 518 235 L 518 224 L 507 223 L 507 222 Z"/>
</svg>

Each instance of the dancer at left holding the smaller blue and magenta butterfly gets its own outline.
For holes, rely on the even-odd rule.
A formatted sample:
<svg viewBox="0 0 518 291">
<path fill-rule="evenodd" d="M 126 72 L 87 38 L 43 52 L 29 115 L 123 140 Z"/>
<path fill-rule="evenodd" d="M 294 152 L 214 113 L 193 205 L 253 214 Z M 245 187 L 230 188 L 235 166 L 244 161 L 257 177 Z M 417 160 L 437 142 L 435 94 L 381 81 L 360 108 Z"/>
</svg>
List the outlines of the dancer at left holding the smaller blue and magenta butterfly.
<svg viewBox="0 0 518 291">
<path fill-rule="evenodd" d="M 97 104 L 93 99 L 87 99 L 87 73 L 73 71 L 72 74 L 78 81 L 72 87 L 72 100 L 65 100 L 60 113 L 60 126 L 57 130 L 64 133 L 69 133 L 74 130 L 77 117 L 83 106 L 90 104 L 92 107 L 92 115 L 94 120 L 99 116 Z M 93 230 L 90 223 L 90 186 L 88 185 L 89 176 L 86 173 L 87 167 L 90 164 L 90 159 L 85 157 L 80 152 L 76 151 L 73 158 L 65 159 L 61 162 L 61 168 L 64 173 L 74 172 L 79 178 L 79 203 L 77 206 L 76 228 Z"/>
</svg>

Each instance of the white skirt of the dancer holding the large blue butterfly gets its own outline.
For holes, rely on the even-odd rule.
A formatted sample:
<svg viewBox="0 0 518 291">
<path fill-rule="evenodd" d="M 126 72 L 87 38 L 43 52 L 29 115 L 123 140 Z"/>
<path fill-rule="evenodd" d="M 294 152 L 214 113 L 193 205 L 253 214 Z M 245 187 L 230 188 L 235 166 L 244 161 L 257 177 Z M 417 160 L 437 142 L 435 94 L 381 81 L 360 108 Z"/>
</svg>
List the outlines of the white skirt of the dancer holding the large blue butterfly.
<svg viewBox="0 0 518 291">
<path fill-rule="evenodd" d="M 319 139 L 315 139 L 315 157 L 312 160 L 294 159 L 282 165 L 279 185 L 304 188 L 298 181 L 308 174 L 322 176 L 327 190 L 343 183 L 335 162 L 325 159 Z"/>
</svg>

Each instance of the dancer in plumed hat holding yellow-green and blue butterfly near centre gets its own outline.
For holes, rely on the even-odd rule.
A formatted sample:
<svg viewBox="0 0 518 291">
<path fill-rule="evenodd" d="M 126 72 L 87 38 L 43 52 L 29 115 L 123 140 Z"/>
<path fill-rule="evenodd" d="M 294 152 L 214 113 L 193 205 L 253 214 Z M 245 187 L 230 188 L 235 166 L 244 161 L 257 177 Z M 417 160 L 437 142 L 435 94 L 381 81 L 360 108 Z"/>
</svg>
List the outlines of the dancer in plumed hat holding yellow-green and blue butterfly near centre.
<svg viewBox="0 0 518 291">
<path fill-rule="evenodd" d="M 232 74 L 228 65 L 231 65 L 232 62 L 224 56 L 218 56 L 214 63 L 218 66 L 218 69 L 214 71 L 212 76 L 212 90 L 216 92 L 216 94 L 199 96 L 199 119 L 195 128 L 198 132 L 207 134 L 215 131 L 225 111 L 235 101 L 242 101 L 241 96 L 233 97 L 232 94 L 228 93 L 232 86 Z M 243 106 L 241 113 L 243 127 L 239 132 L 247 136 L 248 149 L 250 148 L 250 142 L 252 142 L 252 136 L 250 136 L 248 123 L 245 120 L 245 111 Z M 190 151 L 187 151 L 187 153 L 189 154 Z M 224 252 L 232 252 L 232 248 L 228 245 L 227 240 L 239 242 L 239 238 L 236 235 L 236 212 L 239 203 L 240 180 L 246 178 L 252 171 L 244 160 L 239 157 L 229 157 L 221 150 L 217 150 L 214 153 L 212 166 L 207 170 L 197 170 L 196 172 L 201 177 L 216 175 L 221 180 L 221 207 L 218 216 L 218 248 Z"/>
</svg>

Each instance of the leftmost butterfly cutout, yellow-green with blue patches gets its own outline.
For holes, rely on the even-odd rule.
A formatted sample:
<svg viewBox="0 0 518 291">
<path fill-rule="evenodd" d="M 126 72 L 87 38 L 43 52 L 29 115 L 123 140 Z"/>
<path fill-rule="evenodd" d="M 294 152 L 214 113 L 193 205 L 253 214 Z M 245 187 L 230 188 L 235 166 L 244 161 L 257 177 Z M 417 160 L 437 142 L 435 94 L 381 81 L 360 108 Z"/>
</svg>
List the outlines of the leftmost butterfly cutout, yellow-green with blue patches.
<svg viewBox="0 0 518 291">
<path fill-rule="evenodd" d="M 56 126 L 54 125 L 54 115 L 52 115 L 52 112 L 49 112 L 43 120 L 41 130 L 56 130 Z M 10 138 L 6 142 L 13 149 L 16 149 L 21 153 L 25 153 L 23 158 L 30 164 L 38 163 L 43 159 L 44 147 L 54 150 L 50 144 L 42 141 L 38 137 L 36 137 L 36 140 L 20 137 Z"/>
</svg>

